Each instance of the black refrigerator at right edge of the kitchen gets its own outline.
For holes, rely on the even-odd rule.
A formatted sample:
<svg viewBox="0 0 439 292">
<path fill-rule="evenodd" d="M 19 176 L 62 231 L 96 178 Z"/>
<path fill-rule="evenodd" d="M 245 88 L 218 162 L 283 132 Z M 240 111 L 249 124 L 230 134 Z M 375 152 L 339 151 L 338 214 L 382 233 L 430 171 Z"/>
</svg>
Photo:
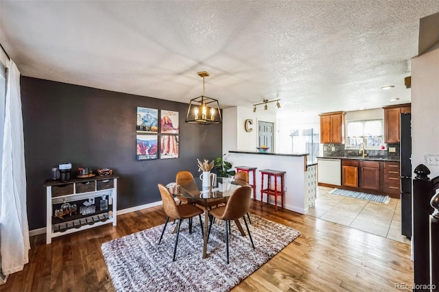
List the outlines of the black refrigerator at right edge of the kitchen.
<svg viewBox="0 0 439 292">
<path fill-rule="evenodd" d="M 412 238 L 412 114 L 401 114 L 401 234 Z"/>
</svg>

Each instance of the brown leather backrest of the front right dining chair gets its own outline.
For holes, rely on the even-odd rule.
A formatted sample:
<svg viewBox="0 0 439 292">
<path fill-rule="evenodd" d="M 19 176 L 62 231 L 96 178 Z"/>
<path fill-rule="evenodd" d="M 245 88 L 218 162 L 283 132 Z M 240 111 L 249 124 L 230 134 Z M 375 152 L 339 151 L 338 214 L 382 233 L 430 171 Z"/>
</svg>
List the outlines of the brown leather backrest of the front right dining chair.
<svg viewBox="0 0 439 292">
<path fill-rule="evenodd" d="M 251 193 L 252 188 L 250 186 L 241 186 L 233 191 L 233 194 L 228 198 L 222 219 L 235 220 L 246 215 L 250 208 Z"/>
</svg>

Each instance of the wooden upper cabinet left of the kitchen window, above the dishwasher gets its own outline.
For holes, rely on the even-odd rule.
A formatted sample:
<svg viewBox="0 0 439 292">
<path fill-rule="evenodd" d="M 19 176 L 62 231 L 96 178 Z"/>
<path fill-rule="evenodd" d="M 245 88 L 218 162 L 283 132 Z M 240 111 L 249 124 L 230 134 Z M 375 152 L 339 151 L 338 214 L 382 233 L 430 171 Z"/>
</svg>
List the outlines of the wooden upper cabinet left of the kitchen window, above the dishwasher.
<svg viewBox="0 0 439 292">
<path fill-rule="evenodd" d="M 344 143 L 344 115 L 328 112 L 320 116 L 320 143 Z"/>
</svg>

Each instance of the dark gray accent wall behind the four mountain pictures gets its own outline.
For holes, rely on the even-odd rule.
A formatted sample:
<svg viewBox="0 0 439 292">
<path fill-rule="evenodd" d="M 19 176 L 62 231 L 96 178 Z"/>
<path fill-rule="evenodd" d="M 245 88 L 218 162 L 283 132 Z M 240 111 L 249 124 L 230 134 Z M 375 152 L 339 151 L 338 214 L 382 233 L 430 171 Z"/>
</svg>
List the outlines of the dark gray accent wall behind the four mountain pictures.
<svg viewBox="0 0 439 292">
<path fill-rule="evenodd" d="M 198 174 L 197 158 L 222 155 L 222 125 L 185 123 L 188 104 L 21 77 L 29 229 L 46 226 L 43 184 L 61 162 L 111 168 L 120 176 L 117 209 L 161 200 L 157 184 L 177 171 Z M 136 160 L 137 107 L 179 112 L 180 158 Z"/>
</svg>

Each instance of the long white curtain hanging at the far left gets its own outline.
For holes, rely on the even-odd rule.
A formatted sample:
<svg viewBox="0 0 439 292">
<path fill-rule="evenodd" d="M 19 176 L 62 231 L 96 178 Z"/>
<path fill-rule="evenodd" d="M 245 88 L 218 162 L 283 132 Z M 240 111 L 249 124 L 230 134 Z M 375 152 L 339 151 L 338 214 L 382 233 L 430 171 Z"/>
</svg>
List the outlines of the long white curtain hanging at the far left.
<svg viewBox="0 0 439 292">
<path fill-rule="evenodd" d="M 20 71 L 12 60 L 7 68 L 0 200 L 1 269 L 5 275 L 23 269 L 30 249 Z"/>
</svg>

